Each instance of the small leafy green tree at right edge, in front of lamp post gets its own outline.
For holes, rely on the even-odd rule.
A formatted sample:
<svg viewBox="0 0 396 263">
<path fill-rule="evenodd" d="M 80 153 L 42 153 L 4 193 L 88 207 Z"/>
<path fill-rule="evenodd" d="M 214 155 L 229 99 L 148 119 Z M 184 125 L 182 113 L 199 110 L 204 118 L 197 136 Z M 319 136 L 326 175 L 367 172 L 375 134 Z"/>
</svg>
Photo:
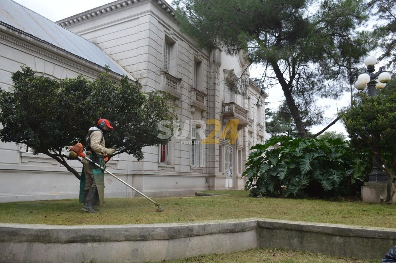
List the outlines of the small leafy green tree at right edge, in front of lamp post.
<svg viewBox="0 0 396 263">
<path fill-rule="evenodd" d="M 362 93 L 357 105 L 343 115 L 344 125 L 350 142 L 356 149 L 373 153 L 383 165 L 388 176 L 386 202 L 392 200 L 396 184 L 392 186 L 396 170 L 396 92 L 395 79 L 393 87 L 379 92 L 375 97 Z"/>
</svg>

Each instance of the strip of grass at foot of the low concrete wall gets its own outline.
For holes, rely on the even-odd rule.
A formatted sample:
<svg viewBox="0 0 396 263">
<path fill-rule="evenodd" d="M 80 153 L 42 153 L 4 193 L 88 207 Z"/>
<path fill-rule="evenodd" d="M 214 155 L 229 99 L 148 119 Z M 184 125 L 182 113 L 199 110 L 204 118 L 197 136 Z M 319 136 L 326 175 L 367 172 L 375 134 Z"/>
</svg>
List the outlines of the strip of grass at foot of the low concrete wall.
<svg viewBox="0 0 396 263">
<path fill-rule="evenodd" d="M 283 263 L 363 263 L 363 262 L 379 262 L 380 259 L 356 259 L 352 257 L 337 257 L 323 255 L 319 253 L 310 253 L 303 251 L 291 251 L 282 249 L 266 249 L 256 248 L 242 252 L 234 252 L 230 254 L 219 255 L 201 255 L 188 257 L 185 259 L 177 259 L 174 261 L 161 261 L 164 263 L 251 263 L 251 262 L 283 262 Z"/>
</svg>

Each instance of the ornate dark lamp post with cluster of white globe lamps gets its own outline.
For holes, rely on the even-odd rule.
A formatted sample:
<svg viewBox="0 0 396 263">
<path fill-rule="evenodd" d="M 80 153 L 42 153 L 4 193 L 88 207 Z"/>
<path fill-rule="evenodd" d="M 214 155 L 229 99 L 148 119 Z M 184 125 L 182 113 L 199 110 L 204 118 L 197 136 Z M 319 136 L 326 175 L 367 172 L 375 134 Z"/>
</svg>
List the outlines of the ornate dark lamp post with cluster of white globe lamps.
<svg viewBox="0 0 396 263">
<path fill-rule="evenodd" d="M 355 82 L 354 86 L 358 90 L 363 90 L 366 85 L 369 89 L 369 96 L 377 96 L 376 89 L 382 89 L 385 87 L 386 83 L 390 81 L 390 73 L 385 70 L 385 66 L 379 68 L 377 72 L 374 73 L 374 65 L 377 63 L 375 57 L 369 56 L 364 60 L 364 64 L 367 68 L 362 68 L 362 72 L 358 76 L 358 80 Z M 379 140 L 379 138 L 377 138 Z M 379 149 L 377 149 L 379 150 Z M 373 158 L 373 171 L 369 174 L 369 182 L 388 182 L 388 177 L 383 171 L 381 160 L 379 158 Z"/>
</svg>

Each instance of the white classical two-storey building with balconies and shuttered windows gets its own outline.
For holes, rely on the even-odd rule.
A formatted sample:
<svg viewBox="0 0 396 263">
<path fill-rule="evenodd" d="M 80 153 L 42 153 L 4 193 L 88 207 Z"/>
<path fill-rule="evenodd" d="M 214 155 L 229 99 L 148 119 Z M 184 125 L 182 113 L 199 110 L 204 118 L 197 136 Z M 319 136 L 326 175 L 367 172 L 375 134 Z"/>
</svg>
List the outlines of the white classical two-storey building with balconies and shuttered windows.
<svg viewBox="0 0 396 263">
<path fill-rule="evenodd" d="M 243 53 L 196 48 L 161 0 L 118 0 L 58 21 L 61 26 L 11 0 L 0 7 L 2 88 L 10 87 L 21 65 L 51 78 L 82 73 L 91 79 L 110 65 L 114 78 L 127 75 L 140 79 L 144 91 L 171 93 L 181 131 L 167 145 L 145 148 L 142 161 L 126 154 L 111 161 L 122 180 L 151 197 L 244 188 L 248 149 L 265 140 L 267 94 L 247 77 Z M 228 90 L 225 83 L 235 76 L 242 76 L 247 96 Z M 79 182 L 70 172 L 23 147 L 0 143 L 0 201 L 77 197 Z M 110 176 L 105 182 L 108 197 L 135 196 Z"/>
</svg>

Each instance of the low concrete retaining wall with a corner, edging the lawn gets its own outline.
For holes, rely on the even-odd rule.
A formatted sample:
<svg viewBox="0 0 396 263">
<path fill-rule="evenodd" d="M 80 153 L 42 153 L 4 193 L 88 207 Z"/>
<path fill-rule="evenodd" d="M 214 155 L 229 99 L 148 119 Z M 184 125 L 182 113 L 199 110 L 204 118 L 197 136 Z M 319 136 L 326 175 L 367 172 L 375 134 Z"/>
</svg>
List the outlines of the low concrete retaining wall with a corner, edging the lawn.
<svg viewBox="0 0 396 263">
<path fill-rule="evenodd" d="M 146 225 L 0 224 L 1 262 L 143 262 L 249 248 L 382 258 L 396 229 L 272 219 Z"/>
</svg>

